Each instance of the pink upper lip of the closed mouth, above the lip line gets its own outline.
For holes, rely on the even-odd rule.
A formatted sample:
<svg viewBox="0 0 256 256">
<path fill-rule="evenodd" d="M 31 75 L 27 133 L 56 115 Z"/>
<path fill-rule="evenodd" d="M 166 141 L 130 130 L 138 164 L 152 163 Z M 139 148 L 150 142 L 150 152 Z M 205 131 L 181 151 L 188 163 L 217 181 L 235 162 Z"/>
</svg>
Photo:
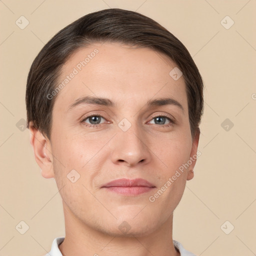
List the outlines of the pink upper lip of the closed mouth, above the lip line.
<svg viewBox="0 0 256 256">
<path fill-rule="evenodd" d="M 148 182 L 143 178 L 135 178 L 135 179 L 127 179 L 127 178 L 120 178 L 112 180 L 101 187 L 110 187 L 110 186 L 148 186 L 148 187 L 155 187 L 152 183 Z"/>
</svg>

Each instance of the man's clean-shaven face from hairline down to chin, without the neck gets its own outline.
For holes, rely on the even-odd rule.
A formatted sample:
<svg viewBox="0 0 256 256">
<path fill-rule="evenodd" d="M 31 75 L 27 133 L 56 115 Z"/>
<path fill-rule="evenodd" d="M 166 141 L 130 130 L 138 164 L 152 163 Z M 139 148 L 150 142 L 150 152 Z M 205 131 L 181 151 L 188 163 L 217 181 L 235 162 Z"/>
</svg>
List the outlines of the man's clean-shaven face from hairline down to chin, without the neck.
<svg viewBox="0 0 256 256">
<path fill-rule="evenodd" d="M 169 75 L 175 66 L 149 48 L 117 43 L 79 49 L 63 66 L 47 142 L 51 166 L 41 169 L 81 226 L 145 235 L 172 217 L 198 143 L 184 80 Z"/>
</svg>

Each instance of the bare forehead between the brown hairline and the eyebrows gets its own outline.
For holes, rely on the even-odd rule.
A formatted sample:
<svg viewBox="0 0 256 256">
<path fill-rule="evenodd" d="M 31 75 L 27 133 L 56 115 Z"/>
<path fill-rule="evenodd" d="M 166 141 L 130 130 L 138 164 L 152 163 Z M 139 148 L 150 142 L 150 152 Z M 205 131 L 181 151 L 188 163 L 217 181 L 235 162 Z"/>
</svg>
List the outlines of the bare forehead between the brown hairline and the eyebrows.
<svg viewBox="0 0 256 256">
<path fill-rule="evenodd" d="M 81 96 L 107 97 L 134 105 L 153 97 L 170 96 L 186 109 L 185 83 L 169 72 L 176 64 L 150 48 L 120 43 L 94 43 L 74 52 L 63 65 L 55 104 L 66 108 Z M 71 77 L 72 76 L 72 77 Z M 63 105 L 62 105 L 63 107 Z"/>
</svg>

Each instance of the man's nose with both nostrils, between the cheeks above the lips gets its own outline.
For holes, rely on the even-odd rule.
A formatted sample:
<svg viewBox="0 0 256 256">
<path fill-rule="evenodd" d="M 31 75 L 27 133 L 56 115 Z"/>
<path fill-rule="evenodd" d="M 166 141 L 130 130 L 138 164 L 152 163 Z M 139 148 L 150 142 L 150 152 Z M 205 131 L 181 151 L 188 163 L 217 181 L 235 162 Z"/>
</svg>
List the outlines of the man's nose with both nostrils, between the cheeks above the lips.
<svg viewBox="0 0 256 256">
<path fill-rule="evenodd" d="M 111 141 L 111 160 L 115 164 L 129 167 L 136 164 L 146 164 L 150 160 L 148 136 L 136 125 L 131 125 L 127 131 L 117 129 L 117 134 Z"/>
</svg>

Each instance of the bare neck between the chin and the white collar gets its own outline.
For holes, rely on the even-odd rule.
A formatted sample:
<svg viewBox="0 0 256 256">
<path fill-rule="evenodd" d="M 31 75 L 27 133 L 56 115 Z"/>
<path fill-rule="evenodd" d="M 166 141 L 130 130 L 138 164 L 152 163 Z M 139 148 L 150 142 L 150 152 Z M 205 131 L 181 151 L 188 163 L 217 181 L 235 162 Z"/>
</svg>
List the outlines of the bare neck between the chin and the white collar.
<svg viewBox="0 0 256 256">
<path fill-rule="evenodd" d="M 179 256 L 172 242 L 172 219 L 167 219 L 157 230 L 144 236 L 102 233 L 75 218 L 70 210 L 64 207 L 65 239 L 59 245 L 63 256 L 94 255 L 110 256 Z"/>
</svg>

